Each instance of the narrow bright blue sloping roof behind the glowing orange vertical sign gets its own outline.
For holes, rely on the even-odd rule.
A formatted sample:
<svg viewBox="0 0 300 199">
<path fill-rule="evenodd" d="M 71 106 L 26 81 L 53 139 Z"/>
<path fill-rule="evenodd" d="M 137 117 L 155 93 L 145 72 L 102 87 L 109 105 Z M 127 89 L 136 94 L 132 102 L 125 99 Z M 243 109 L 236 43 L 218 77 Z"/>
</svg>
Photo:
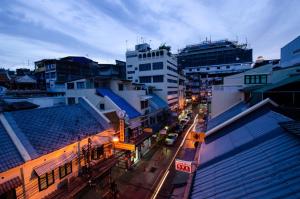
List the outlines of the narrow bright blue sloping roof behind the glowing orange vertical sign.
<svg viewBox="0 0 300 199">
<path fill-rule="evenodd" d="M 97 88 L 97 93 L 100 96 L 107 96 L 108 98 L 110 98 L 120 109 L 126 111 L 126 114 L 128 115 L 129 119 L 141 116 L 141 114 L 134 107 L 132 107 L 125 99 L 118 96 L 110 89 Z"/>
</svg>

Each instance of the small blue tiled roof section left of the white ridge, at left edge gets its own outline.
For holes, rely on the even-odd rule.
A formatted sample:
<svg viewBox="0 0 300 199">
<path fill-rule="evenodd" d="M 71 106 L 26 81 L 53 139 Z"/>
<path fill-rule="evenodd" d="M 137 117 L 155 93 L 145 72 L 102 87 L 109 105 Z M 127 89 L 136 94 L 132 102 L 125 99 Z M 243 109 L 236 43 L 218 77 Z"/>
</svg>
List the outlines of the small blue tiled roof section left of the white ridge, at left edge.
<svg viewBox="0 0 300 199">
<path fill-rule="evenodd" d="M 0 145 L 0 173 L 24 163 L 2 124 L 0 124 Z"/>
</svg>

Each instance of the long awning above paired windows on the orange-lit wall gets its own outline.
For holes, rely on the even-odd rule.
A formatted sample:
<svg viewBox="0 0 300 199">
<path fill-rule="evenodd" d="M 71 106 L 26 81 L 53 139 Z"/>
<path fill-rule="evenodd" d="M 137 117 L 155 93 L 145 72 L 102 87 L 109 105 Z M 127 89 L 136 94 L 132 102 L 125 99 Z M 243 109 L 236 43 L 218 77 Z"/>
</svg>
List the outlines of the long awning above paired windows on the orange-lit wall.
<svg viewBox="0 0 300 199">
<path fill-rule="evenodd" d="M 38 176 L 41 176 L 47 172 L 50 172 L 59 166 L 62 166 L 68 162 L 71 162 L 74 158 L 76 158 L 77 154 L 71 152 L 66 153 L 64 155 L 59 156 L 58 158 L 48 161 L 43 165 L 33 168 Z"/>
</svg>

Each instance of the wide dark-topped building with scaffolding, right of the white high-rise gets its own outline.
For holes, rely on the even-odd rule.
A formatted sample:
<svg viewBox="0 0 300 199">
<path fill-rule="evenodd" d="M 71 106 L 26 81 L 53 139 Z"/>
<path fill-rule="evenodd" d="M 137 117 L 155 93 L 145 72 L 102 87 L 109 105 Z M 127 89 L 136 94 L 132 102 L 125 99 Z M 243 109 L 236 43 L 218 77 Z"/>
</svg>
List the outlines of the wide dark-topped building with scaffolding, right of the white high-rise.
<svg viewBox="0 0 300 199">
<path fill-rule="evenodd" d="M 187 78 L 186 97 L 196 100 L 201 91 L 221 84 L 225 76 L 250 69 L 252 49 L 236 41 L 205 41 L 181 49 L 177 59 Z"/>
</svg>

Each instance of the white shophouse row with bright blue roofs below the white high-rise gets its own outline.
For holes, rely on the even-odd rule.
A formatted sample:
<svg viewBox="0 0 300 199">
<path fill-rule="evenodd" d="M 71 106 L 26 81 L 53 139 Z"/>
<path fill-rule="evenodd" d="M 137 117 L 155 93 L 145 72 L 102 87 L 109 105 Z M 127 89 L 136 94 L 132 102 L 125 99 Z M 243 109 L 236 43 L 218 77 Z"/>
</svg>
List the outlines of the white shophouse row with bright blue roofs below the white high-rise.
<svg viewBox="0 0 300 199">
<path fill-rule="evenodd" d="M 125 143 L 130 164 L 135 164 L 151 148 L 159 130 L 166 125 L 168 105 L 158 95 L 148 94 L 142 84 L 117 78 L 93 77 L 66 83 L 66 103 L 75 104 L 81 97 L 93 104 L 119 129 L 118 112 L 125 114 Z M 150 128 L 150 129 L 149 129 Z M 119 129 L 120 131 L 120 129 Z"/>
</svg>

